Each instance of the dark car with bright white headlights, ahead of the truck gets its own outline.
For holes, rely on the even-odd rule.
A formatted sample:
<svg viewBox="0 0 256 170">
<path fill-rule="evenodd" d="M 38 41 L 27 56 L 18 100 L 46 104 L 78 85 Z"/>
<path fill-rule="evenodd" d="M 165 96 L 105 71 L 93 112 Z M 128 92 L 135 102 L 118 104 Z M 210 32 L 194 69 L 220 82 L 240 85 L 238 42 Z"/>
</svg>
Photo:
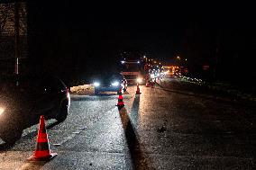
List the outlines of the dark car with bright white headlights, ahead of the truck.
<svg viewBox="0 0 256 170">
<path fill-rule="evenodd" d="M 126 91 L 127 81 L 120 73 L 105 72 L 100 76 L 93 78 L 95 94 L 100 92 L 116 92 L 119 94 L 120 89 Z"/>
</svg>

